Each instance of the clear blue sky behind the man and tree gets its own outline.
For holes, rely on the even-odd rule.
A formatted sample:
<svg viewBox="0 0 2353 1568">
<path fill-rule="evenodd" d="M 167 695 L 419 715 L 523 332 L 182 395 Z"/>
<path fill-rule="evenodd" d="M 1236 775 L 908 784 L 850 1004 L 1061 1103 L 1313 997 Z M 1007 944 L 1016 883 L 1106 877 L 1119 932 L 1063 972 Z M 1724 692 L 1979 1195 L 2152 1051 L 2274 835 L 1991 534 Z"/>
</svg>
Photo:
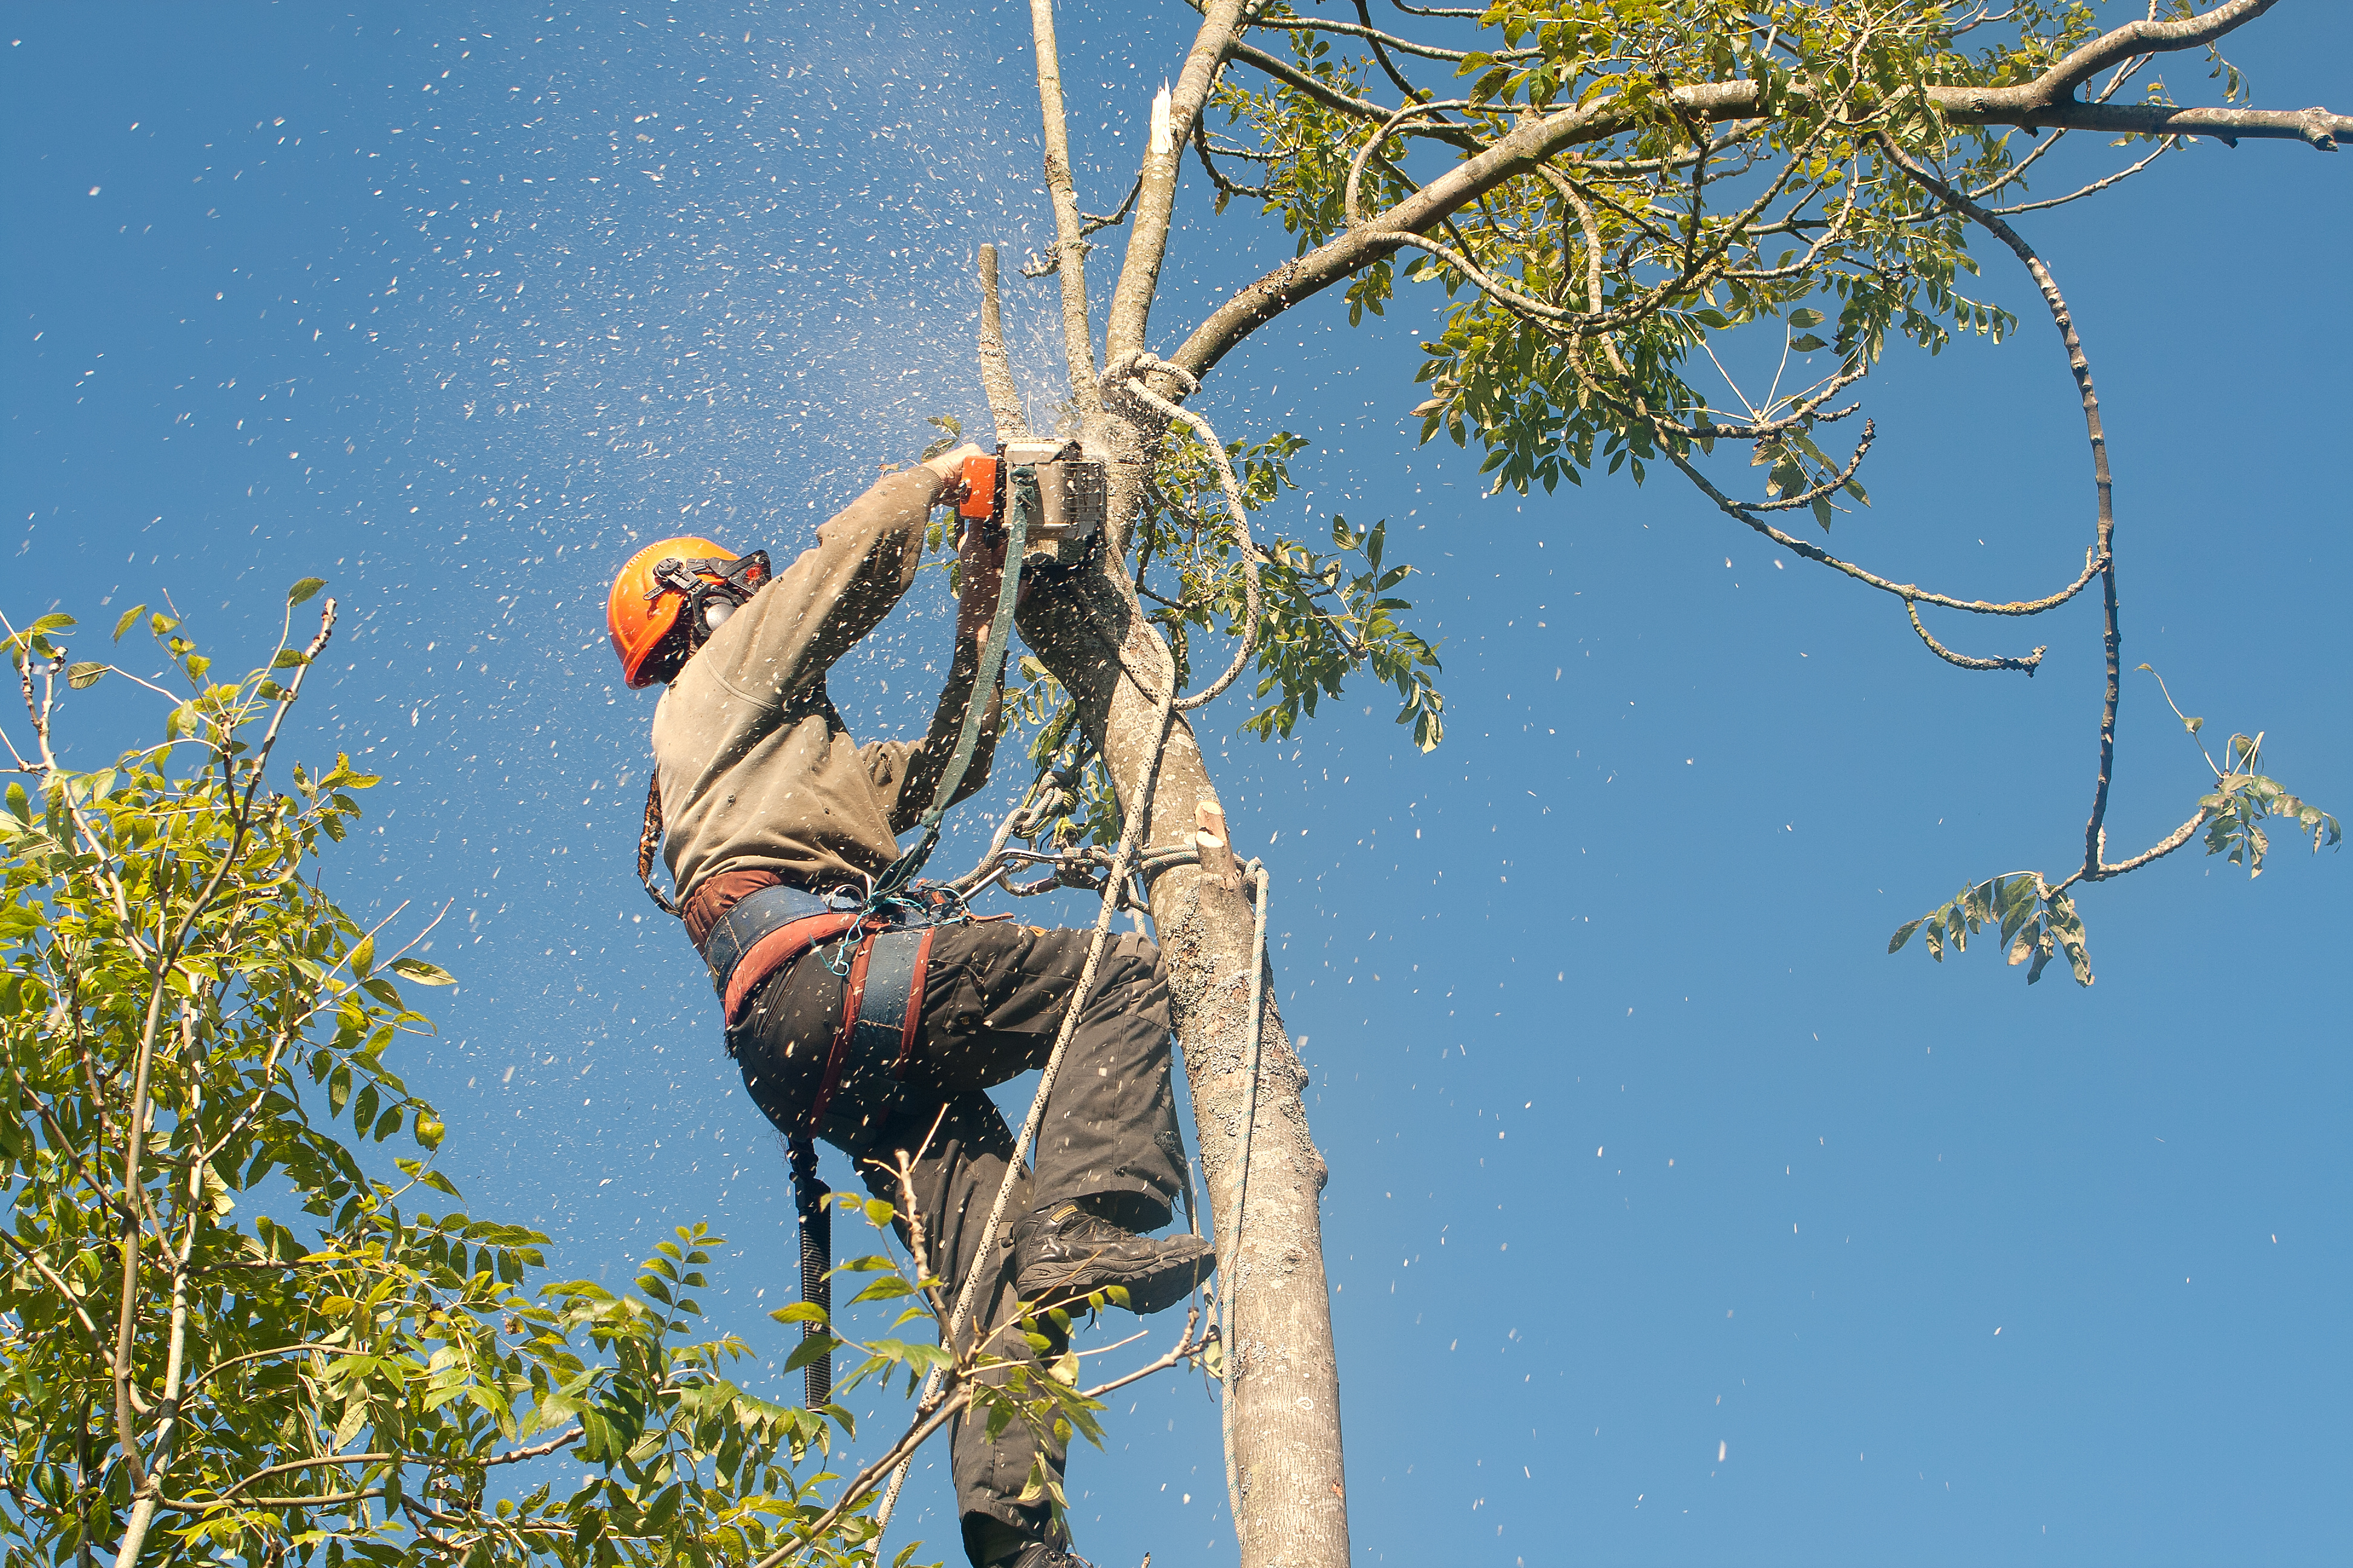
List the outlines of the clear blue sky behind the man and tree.
<svg viewBox="0 0 2353 1568">
<path fill-rule="evenodd" d="M 1184 7 L 1132 9 L 1064 14 L 1092 209 L 1188 38 Z M 925 416 L 986 425 L 969 254 L 1049 228 L 1024 16 L 5 19 L 7 614 L 96 628 L 169 592 L 235 663 L 285 583 L 327 576 L 344 630 L 289 748 L 386 773 L 332 865 L 346 903 L 449 905 L 433 957 L 461 985 L 407 1063 L 442 1164 L 478 1213 L 548 1229 L 560 1274 L 621 1279 L 713 1222 L 713 1309 L 781 1359 L 784 1164 L 633 886 L 652 701 L 619 686 L 602 590 L 680 524 L 788 555 Z M 2233 47 L 2266 106 L 2341 106 L 2348 54 L 2353 21 L 2311 5 Z M 2346 169 L 2200 143 L 2028 219 L 2111 421 L 2127 668 L 2207 733 L 2266 731 L 2271 771 L 2339 813 Z M 1162 348 L 1289 254 L 1198 188 L 1179 216 Z M 1875 505 L 1838 543 L 2012 597 L 2075 571 L 2089 487 L 2031 289 L 1986 277 L 2019 336 L 1889 353 Z M 1049 296 L 1007 308 L 1042 404 Z M 1200 724 L 1273 867 L 1332 1166 L 1360 1561 L 2341 1561 L 2344 860 L 2280 835 L 2257 884 L 2186 853 L 2087 893 L 2087 992 L 1885 957 L 1965 879 L 2080 853 L 2097 609 L 1939 625 L 2052 646 L 2033 682 L 1965 675 L 1664 480 L 1482 501 L 1475 456 L 1405 416 L 1433 308 L 1405 289 L 1351 331 L 1308 303 L 1200 400 L 1226 435 L 1311 437 L 1266 527 L 1386 515 L 1442 639 L 1431 757 L 1374 689 L 1285 745 L 1240 736 L 1233 696 Z M 927 583 L 838 672 L 852 724 L 920 724 L 944 637 Z M 2120 846 L 2205 776 L 2146 679 Z M 160 722 L 82 712 L 87 764 Z M 1115 1406 L 1073 1467 L 1080 1547 L 1228 1561 L 1217 1443 L 1198 1380 Z M 901 1519 L 953 1556 L 944 1505 L 922 1469 Z"/>
</svg>

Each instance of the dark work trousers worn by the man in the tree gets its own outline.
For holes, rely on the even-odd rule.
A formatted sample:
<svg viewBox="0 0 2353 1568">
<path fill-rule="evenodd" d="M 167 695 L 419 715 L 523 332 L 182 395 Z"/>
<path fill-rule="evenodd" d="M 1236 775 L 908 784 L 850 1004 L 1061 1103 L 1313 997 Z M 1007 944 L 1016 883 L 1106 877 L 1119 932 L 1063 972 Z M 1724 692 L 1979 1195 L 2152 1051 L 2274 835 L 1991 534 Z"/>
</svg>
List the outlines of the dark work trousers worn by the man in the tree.
<svg viewBox="0 0 2353 1568">
<path fill-rule="evenodd" d="M 1014 1135 L 988 1088 L 1045 1067 L 1064 1004 L 1087 961 L 1087 931 L 972 922 L 941 926 L 925 971 L 922 1027 L 901 1074 L 892 1114 L 871 1143 L 849 1150 L 866 1190 L 901 1204 L 892 1154 L 915 1159 L 915 1204 L 932 1255 L 927 1267 L 962 1288 L 988 1208 L 995 1204 Z M 845 980 L 826 969 L 833 947 L 807 952 L 753 992 L 727 1048 L 744 1067 L 753 1103 L 784 1133 L 798 1133 L 842 1023 Z M 934 1131 L 936 1121 L 936 1131 Z M 929 1143 L 925 1143 L 929 1135 Z M 998 1225 L 995 1258 L 981 1279 L 974 1319 L 998 1331 L 1012 1321 L 1009 1232 L 1035 1204 L 1120 1197 L 1132 1229 L 1160 1229 L 1184 1190 L 1184 1143 L 1169 1088 L 1169 987 L 1160 950 L 1141 936 L 1111 936 L 1094 987 L 1078 1013 L 1038 1138 L 1038 1171 L 1014 1187 Z M 906 1241 L 906 1225 L 899 1227 Z M 1002 1335 L 995 1345 L 1026 1352 Z M 1038 1448 L 1021 1425 L 991 1443 L 986 1422 L 955 1422 L 951 1467 L 965 1540 L 984 1519 L 1042 1533 L 1045 1502 L 1016 1502 Z M 1059 1479 L 1064 1446 L 1045 1455 Z"/>
</svg>

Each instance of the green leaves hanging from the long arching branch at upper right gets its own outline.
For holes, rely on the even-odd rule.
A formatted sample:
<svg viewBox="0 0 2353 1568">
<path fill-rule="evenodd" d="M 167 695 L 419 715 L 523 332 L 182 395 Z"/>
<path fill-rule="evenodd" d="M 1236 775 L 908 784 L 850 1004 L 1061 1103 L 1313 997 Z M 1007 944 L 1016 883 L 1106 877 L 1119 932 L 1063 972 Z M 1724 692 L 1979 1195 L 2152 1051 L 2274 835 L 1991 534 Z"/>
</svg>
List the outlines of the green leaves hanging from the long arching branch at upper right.
<svg viewBox="0 0 2353 1568">
<path fill-rule="evenodd" d="M 2146 24 L 2214 19 L 2195 0 L 2127 9 Z M 1489 489 L 1518 494 L 1584 484 L 1595 470 L 1626 470 L 1640 484 L 1668 463 L 1781 550 L 1901 599 L 1927 649 L 1969 670 L 2031 675 L 2042 649 L 1955 654 L 1920 623 L 1920 604 L 2033 616 L 2101 583 L 2113 607 L 2106 444 L 2087 360 L 2047 266 L 2005 216 L 2094 195 L 2179 141 L 2120 136 L 2115 146 L 2153 146 L 2108 179 L 2028 202 L 2033 165 L 2068 132 L 2021 132 L 2017 113 L 2005 127 L 1972 106 L 2000 92 L 2054 92 L 2075 108 L 2118 103 L 2134 78 L 2144 78 L 2144 103 L 2165 106 L 2153 66 L 2177 47 L 2202 47 L 2224 101 L 2238 103 L 2245 82 L 2214 40 L 2252 12 L 2179 42 L 2146 28 L 2111 35 L 2101 7 L 2085 0 L 2021 0 L 2000 12 L 1939 0 L 1492 0 L 1475 12 L 1400 12 L 1381 26 L 1365 7 L 1353 24 L 1285 5 L 1247 12 L 1245 31 L 1282 38 L 1287 59 L 1245 49 L 1257 75 L 1219 80 L 1207 108 L 1221 110 L 1224 127 L 1195 129 L 1193 150 L 1221 212 L 1254 202 L 1311 266 L 1346 259 L 1329 266 L 1346 270 L 1351 324 L 1381 315 L 1400 275 L 1445 289 L 1445 327 L 1421 346 L 1417 374 L 1428 388 L 1412 411 L 1424 442 L 1442 433 L 1478 444 Z M 1407 28 L 1419 35 L 1395 35 Z M 2054 73 L 2094 40 L 2108 49 L 2099 71 Z M 1386 96 L 1398 106 L 1377 101 Z M 1235 179 L 1238 162 L 1257 172 Z M 2082 576 L 2007 604 L 1875 576 L 1777 517 L 1795 512 L 1828 534 L 1840 512 L 1871 503 L 1859 480 L 1871 421 L 1849 451 L 1831 444 L 1828 428 L 1857 414 L 1845 395 L 1892 341 L 1934 355 L 1955 334 L 2000 341 L 2017 329 L 1974 282 L 1974 235 L 1998 237 L 2026 263 L 2038 306 L 2059 327 L 2101 494 Z M 1280 268 L 1259 287 L 1299 292 Z M 1711 473 L 1720 444 L 1746 449 L 1746 468 L 1762 470 L 1760 494 L 1741 498 L 1734 475 Z M 1337 522 L 1334 538 L 1346 548 L 1358 536 Z M 1379 541 L 1379 529 L 1367 538 Z M 1339 590 L 1332 564 L 1306 564 L 1306 574 Z M 1360 576 L 1348 592 L 1379 592 L 1379 583 Z M 1287 607 L 1282 623 L 1301 621 Z M 2113 609 L 2106 635 L 2113 658 Z M 1306 668 L 1320 670 L 1313 658 Z M 1259 733 L 1289 733 L 1301 696 L 1313 712 L 1318 689 L 1332 691 L 1280 684 L 1287 705 L 1259 712 Z M 1962 950 L 1998 926 L 2009 961 L 2031 961 L 2028 980 L 2064 952 L 2089 985 L 2082 922 L 2066 893 L 2075 882 L 2139 870 L 2198 827 L 2209 853 L 2259 872 L 2266 816 L 2292 818 L 2315 846 L 2334 842 L 2334 818 L 2257 773 L 2247 743 L 2214 769 L 2217 788 L 2193 823 L 2108 863 L 2101 818 L 2115 705 L 2111 679 L 2085 865 L 2057 884 L 2035 872 L 1972 884 L 1904 926 L 1892 950 L 1925 929 L 1941 961 L 1946 945 Z"/>
</svg>

